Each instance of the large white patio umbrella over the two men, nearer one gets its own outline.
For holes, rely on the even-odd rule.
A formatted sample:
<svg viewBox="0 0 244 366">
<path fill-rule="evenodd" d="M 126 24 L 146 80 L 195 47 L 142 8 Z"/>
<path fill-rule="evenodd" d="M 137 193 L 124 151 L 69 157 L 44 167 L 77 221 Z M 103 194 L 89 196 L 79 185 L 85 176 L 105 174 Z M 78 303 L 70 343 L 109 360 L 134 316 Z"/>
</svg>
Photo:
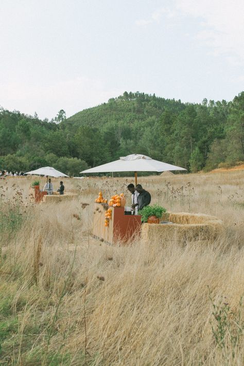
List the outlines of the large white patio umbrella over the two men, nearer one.
<svg viewBox="0 0 244 366">
<path fill-rule="evenodd" d="M 102 164 L 91 169 L 82 170 L 81 173 L 104 173 L 115 171 L 134 171 L 135 184 L 137 184 L 137 171 L 167 171 L 167 170 L 186 170 L 176 165 L 153 160 L 149 156 L 141 154 L 131 154 L 123 156 L 111 163 Z"/>
</svg>

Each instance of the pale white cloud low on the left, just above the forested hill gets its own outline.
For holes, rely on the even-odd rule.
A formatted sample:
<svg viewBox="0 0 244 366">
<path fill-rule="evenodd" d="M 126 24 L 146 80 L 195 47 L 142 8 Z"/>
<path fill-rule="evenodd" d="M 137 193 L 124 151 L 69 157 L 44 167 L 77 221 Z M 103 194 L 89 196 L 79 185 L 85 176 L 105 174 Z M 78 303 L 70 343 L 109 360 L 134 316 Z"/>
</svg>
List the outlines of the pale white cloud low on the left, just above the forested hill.
<svg viewBox="0 0 244 366">
<path fill-rule="evenodd" d="M 53 118 L 60 109 L 67 117 L 83 109 L 107 102 L 125 90 L 111 89 L 101 79 L 77 77 L 53 84 L 22 83 L 20 80 L 1 84 L 0 100 L 5 109 L 19 110 L 40 118 Z"/>
</svg>

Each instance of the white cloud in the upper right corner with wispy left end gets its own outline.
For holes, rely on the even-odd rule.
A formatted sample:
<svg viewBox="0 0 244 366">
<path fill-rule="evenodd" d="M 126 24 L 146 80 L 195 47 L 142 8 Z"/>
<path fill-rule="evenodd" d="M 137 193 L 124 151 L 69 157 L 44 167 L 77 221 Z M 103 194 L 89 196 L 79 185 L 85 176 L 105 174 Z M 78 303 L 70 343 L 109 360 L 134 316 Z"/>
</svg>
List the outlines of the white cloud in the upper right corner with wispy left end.
<svg viewBox="0 0 244 366">
<path fill-rule="evenodd" d="M 167 7 L 151 12 L 147 19 L 137 20 L 137 26 L 160 23 L 185 26 L 194 20 L 191 37 L 210 48 L 210 54 L 224 56 L 232 65 L 244 61 L 243 0 L 172 0 Z M 197 21 L 197 22 L 196 22 Z"/>
</svg>

